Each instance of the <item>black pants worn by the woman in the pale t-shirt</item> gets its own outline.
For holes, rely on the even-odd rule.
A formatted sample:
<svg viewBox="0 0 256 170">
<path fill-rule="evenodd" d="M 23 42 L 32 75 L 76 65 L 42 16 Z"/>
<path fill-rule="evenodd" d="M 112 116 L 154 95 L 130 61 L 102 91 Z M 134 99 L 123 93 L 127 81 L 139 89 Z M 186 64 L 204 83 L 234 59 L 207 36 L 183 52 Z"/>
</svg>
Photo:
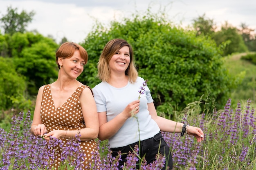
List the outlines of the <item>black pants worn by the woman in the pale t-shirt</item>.
<svg viewBox="0 0 256 170">
<path fill-rule="evenodd" d="M 119 170 L 121 170 L 122 168 L 120 168 L 122 165 L 124 165 L 124 163 L 126 162 L 126 157 L 128 155 L 128 152 L 131 151 L 132 149 L 134 150 L 134 146 L 138 145 L 139 146 L 139 142 L 135 142 L 133 144 L 124 146 L 124 147 L 119 147 L 119 148 L 110 148 L 110 150 L 112 150 L 112 157 L 117 157 L 118 155 L 118 151 L 121 151 L 121 159 L 119 161 Z M 154 137 L 151 137 L 149 139 L 140 141 L 140 151 L 139 154 L 141 156 L 145 155 L 145 159 L 148 163 L 153 163 L 153 161 L 155 161 L 155 156 L 158 153 L 161 153 L 162 155 L 165 155 L 166 158 L 166 162 L 164 165 L 163 170 L 166 169 L 166 167 L 168 166 L 169 169 L 171 170 L 173 168 L 173 159 L 172 159 L 172 155 L 170 152 L 170 148 L 167 146 L 166 142 L 164 141 L 164 138 L 162 137 L 162 134 L 159 132 L 157 133 Z M 160 148 L 159 148 L 160 145 Z M 132 149 L 131 149 L 132 148 Z M 136 168 L 139 169 L 139 161 L 137 162 Z"/>
</svg>

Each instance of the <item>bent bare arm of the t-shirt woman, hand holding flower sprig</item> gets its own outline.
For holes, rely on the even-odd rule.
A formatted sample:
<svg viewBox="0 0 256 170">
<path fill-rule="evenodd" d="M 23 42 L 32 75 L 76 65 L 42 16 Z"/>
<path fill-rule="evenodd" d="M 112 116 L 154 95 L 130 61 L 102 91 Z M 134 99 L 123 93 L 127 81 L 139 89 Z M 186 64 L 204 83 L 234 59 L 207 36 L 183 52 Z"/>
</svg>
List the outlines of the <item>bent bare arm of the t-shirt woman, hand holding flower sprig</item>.
<svg viewBox="0 0 256 170">
<path fill-rule="evenodd" d="M 135 108 L 138 108 L 135 109 Z M 124 111 L 119 113 L 114 119 L 107 122 L 107 113 L 99 112 L 99 139 L 109 139 L 119 131 L 126 120 L 131 117 L 131 113 L 137 114 L 139 112 L 139 100 L 135 100 L 126 106 Z"/>
</svg>

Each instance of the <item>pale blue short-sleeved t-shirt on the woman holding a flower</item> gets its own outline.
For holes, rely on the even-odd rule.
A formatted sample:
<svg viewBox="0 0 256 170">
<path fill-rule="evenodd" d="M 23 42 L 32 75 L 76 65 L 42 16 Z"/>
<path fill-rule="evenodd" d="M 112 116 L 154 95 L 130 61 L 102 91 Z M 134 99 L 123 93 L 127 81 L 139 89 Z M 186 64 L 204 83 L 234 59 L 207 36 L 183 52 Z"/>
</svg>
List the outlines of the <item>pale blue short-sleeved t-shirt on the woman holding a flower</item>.
<svg viewBox="0 0 256 170">
<path fill-rule="evenodd" d="M 115 118 L 124 111 L 126 106 L 138 100 L 140 87 L 144 79 L 138 77 L 135 83 L 130 83 L 125 87 L 116 88 L 107 82 L 101 82 L 92 90 L 97 105 L 98 112 L 107 112 L 107 121 Z M 127 146 L 129 144 L 145 140 L 159 133 L 157 123 L 151 118 L 148 111 L 148 103 L 153 102 L 148 86 L 141 95 L 139 103 L 139 113 L 135 117 L 128 118 L 119 131 L 109 139 L 110 148 Z M 138 120 L 138 121 L 137 121 Z M 138 127 L 139 126 L 139 127 Z"/>
</svg>

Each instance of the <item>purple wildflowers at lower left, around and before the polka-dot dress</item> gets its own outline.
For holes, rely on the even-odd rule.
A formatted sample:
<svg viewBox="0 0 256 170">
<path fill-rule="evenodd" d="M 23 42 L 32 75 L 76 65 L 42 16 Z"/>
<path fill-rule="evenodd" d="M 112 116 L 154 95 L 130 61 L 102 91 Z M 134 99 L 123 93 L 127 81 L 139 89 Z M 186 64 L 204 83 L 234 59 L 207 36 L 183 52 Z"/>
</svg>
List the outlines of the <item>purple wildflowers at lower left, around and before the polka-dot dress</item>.
<svg viewBox="0 0 256 170">
<path fill-rule="evenodd" d="M 25 120 L 23 117 L 23 112 L 19 116 L 13 116 L 9 133 L 0 129 L 0 169 L 52 169 L 56 160 L 55 148 L 63 147 L 63 141 L 51 138 L 47 143 L 45 139 L 35 137 L 30 133 L 30 112 L 27 112 Z M 62 160 L 65 163 L 62 166 L 64 169 L 72 167 L 80 170 L 83 153 L 80 152 L 76 139 L 70 139 L 69 142 L 63 147 Z M 70 155 L 67 156 L 66 153 Z"/>
</svg>

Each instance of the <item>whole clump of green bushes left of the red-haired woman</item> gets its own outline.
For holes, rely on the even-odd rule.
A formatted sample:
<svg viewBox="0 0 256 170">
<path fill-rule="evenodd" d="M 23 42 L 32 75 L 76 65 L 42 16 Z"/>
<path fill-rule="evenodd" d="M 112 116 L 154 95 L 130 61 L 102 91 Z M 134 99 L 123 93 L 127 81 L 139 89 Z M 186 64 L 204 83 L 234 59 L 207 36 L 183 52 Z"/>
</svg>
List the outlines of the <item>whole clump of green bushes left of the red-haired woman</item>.
<svg viewBox="0 0 256 170">
<path fill-rule="evenodd" d="M 57 48 L 52 39 L 38 33 L 0 35 L 0 54 L 4 56 L 0 57 L 0 110 L 33 107 L 28 98 L 57 77 Z"/>
</svg>

